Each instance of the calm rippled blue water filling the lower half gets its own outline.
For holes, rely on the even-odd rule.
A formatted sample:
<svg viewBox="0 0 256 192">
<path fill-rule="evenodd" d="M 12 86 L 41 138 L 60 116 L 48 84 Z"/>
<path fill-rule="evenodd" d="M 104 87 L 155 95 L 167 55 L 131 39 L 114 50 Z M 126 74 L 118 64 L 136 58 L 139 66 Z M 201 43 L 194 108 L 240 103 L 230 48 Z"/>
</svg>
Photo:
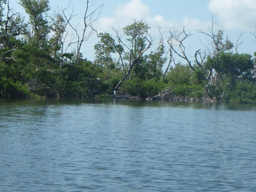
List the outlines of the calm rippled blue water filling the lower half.
<svg viewBox="0 0 256 192">
<path fill-rule="evenodd" d="M 1 100 L 0 191 L 256 191 L 256 106 Z"/>
</svg>

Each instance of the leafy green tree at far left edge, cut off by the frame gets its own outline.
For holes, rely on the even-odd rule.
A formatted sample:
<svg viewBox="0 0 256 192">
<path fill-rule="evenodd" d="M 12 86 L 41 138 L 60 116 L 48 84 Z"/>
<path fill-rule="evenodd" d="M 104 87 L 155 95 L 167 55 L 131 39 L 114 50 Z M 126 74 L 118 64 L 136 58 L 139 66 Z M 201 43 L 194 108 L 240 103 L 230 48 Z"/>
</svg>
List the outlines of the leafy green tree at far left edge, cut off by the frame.
<svg viewBox="0 0 256 192">
<path fill-rule="evenodd" d="M 27 24 L 18 12 L 10 9 L 9 1 L 5 0 L 0 0 L 0 23 L 0 97 L 28 96 L 28 86 L 21 83 L 22 72 L 16 65 L 15 56 L 15 51 L 23 44 L 22 35 L 27 33 Z"/>
</svg>

